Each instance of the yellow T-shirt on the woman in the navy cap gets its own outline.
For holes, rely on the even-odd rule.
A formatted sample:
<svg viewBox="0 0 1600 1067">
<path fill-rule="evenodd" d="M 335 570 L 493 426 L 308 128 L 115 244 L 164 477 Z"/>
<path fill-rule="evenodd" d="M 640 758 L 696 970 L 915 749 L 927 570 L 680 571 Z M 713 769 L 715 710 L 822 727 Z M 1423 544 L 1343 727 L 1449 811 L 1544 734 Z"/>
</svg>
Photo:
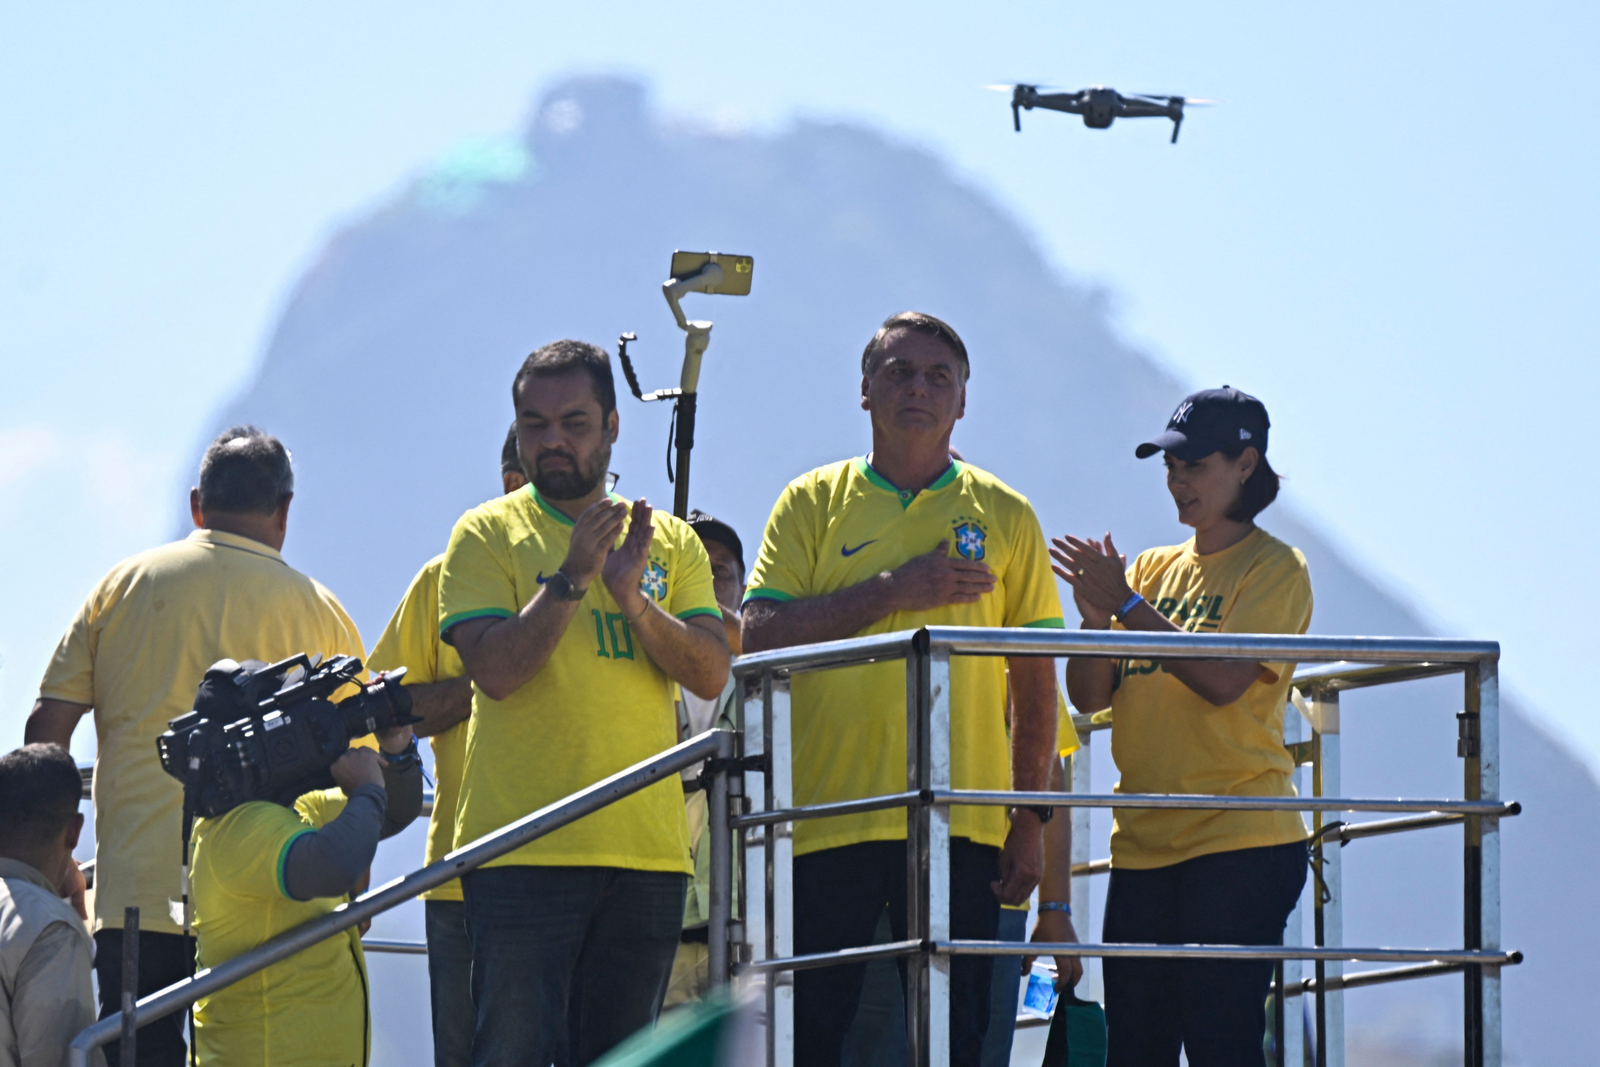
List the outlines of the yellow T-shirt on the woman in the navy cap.
<svg viewBox="0 0 1600 1067">
<path fill-rule="evenodd" d="M 1197 555 L 1194 537 L 1150 549 L 1128 582 L 1192 633 L 1304 633 L 1310 625 L 1306 557 L 1264 530 Z M 1120 629 L 1120 627 L 1118 627 Z M 1245 696 L 1216 707 L 1154 661 L 1118 661 L 1110 750 L 1123 793 L 1293 797 L 1294 760 L 1283 747 L 1283 705 L 1294 664 L 1266 664 Z M 1139 811 L 1118 808 L 1114 867 L 1166 867 L 1237 848 L 1306 837 L 1293 811 Z"/>
</svg>

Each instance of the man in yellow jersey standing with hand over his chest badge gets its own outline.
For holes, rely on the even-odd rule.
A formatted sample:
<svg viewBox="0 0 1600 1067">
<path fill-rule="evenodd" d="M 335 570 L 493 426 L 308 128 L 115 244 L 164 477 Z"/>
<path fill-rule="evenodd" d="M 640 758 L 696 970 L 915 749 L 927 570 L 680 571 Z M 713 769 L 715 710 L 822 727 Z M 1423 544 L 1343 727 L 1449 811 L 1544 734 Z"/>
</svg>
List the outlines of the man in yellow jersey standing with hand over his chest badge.
<svg viewBox="0 0 1600 1067">
<path fill-rule="evenodd" d="M 1045 537 L 1027 499 L 950 459 L 966 406 L 966 346 L 933 315 L 888 318 L 861 357 L 872 453 L 789 483 L 766 525 L 744 603 L 744 651 L 920 625 L 1061 627 Z M 1045 789 L 1056 742 L 1051 659 L 950 664 L 957 789 Z M 906 789 L 906 672 L 899 664 L 794 680 L 795 803 Z M 1021 904 L 1043 869 L 1051 809 L 950 813 L 950 933 L 992 941 L 1000 904 Z M 795 824 L 795 952 L 872 941 L 883 909 L 906 937 L 906 814 Z M 950 968 L 950 1062 L 976 1067 L 989 1024 L 992 961 Z M 795 974 L 795 1064 L 835 1067 L 862 966 Z"/>
</svg>

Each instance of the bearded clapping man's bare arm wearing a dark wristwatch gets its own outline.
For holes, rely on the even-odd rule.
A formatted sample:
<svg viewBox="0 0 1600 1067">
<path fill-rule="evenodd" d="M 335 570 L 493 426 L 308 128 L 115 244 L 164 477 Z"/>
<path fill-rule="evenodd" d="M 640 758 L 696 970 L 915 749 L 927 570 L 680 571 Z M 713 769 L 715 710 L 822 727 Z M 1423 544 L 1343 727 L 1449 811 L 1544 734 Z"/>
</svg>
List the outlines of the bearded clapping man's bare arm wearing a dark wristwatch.
<svg viewBox="0 0 1600 1067">
<path fill-rule="evenodd" d="M 576 589 L 587 589 L 600 576 L 626 517 L 627 506 L 610 499 L 589 506 L 578 517 L 566 561 L 560 568 Z M 467 677 L 490 699 L 504 701 L 544 669 L 578 614 L 578 603 L 557 600 L 547 587 L 541 587 L 509 619 L 467 619 L 453 625 L 446 638 L 461 654 Z"/>
</svg>

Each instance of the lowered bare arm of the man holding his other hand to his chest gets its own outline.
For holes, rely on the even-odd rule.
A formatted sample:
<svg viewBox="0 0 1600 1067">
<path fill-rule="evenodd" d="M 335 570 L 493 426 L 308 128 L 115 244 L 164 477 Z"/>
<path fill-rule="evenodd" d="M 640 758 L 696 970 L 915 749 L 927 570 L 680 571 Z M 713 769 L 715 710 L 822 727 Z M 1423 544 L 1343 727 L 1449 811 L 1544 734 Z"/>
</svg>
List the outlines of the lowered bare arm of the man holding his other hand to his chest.
<svg viewBox="0 0 1600 1067">
<path fill-rule="evenodd" d="M 1043 792 L 1056 747 L 1056 661 L 1018 656 L 1011 673 L 1011 789 Z M 990 888 L 1002 904 L 1021 904 L 1045 870 L 1038 816 L 1026 808 L 1011 813 L 1011 829 L 1000 849 L 1000 880 Z"/>
</svg>

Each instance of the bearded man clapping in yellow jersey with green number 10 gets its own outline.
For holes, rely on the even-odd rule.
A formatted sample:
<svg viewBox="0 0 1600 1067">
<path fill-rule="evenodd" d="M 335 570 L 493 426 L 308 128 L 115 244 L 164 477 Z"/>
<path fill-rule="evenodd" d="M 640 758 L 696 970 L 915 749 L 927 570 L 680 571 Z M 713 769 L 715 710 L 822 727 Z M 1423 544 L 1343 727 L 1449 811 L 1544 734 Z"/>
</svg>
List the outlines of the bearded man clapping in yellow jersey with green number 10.
<svg viewBox="0 0 1600 1067">
<path fill-rule="evenodd" d="M 512 382 L 531 485 L 456 523 L 440 633 L 472 678 L 456 846 L 677 744 L 672 683 L 715 697 L 728 640 L 690 526 L 606 493 L 605 350 Z M 661 1009 L 691 873 L 677 776 L 462 877 L 474 1067 L 582 1067 Z"/>
</svg>

